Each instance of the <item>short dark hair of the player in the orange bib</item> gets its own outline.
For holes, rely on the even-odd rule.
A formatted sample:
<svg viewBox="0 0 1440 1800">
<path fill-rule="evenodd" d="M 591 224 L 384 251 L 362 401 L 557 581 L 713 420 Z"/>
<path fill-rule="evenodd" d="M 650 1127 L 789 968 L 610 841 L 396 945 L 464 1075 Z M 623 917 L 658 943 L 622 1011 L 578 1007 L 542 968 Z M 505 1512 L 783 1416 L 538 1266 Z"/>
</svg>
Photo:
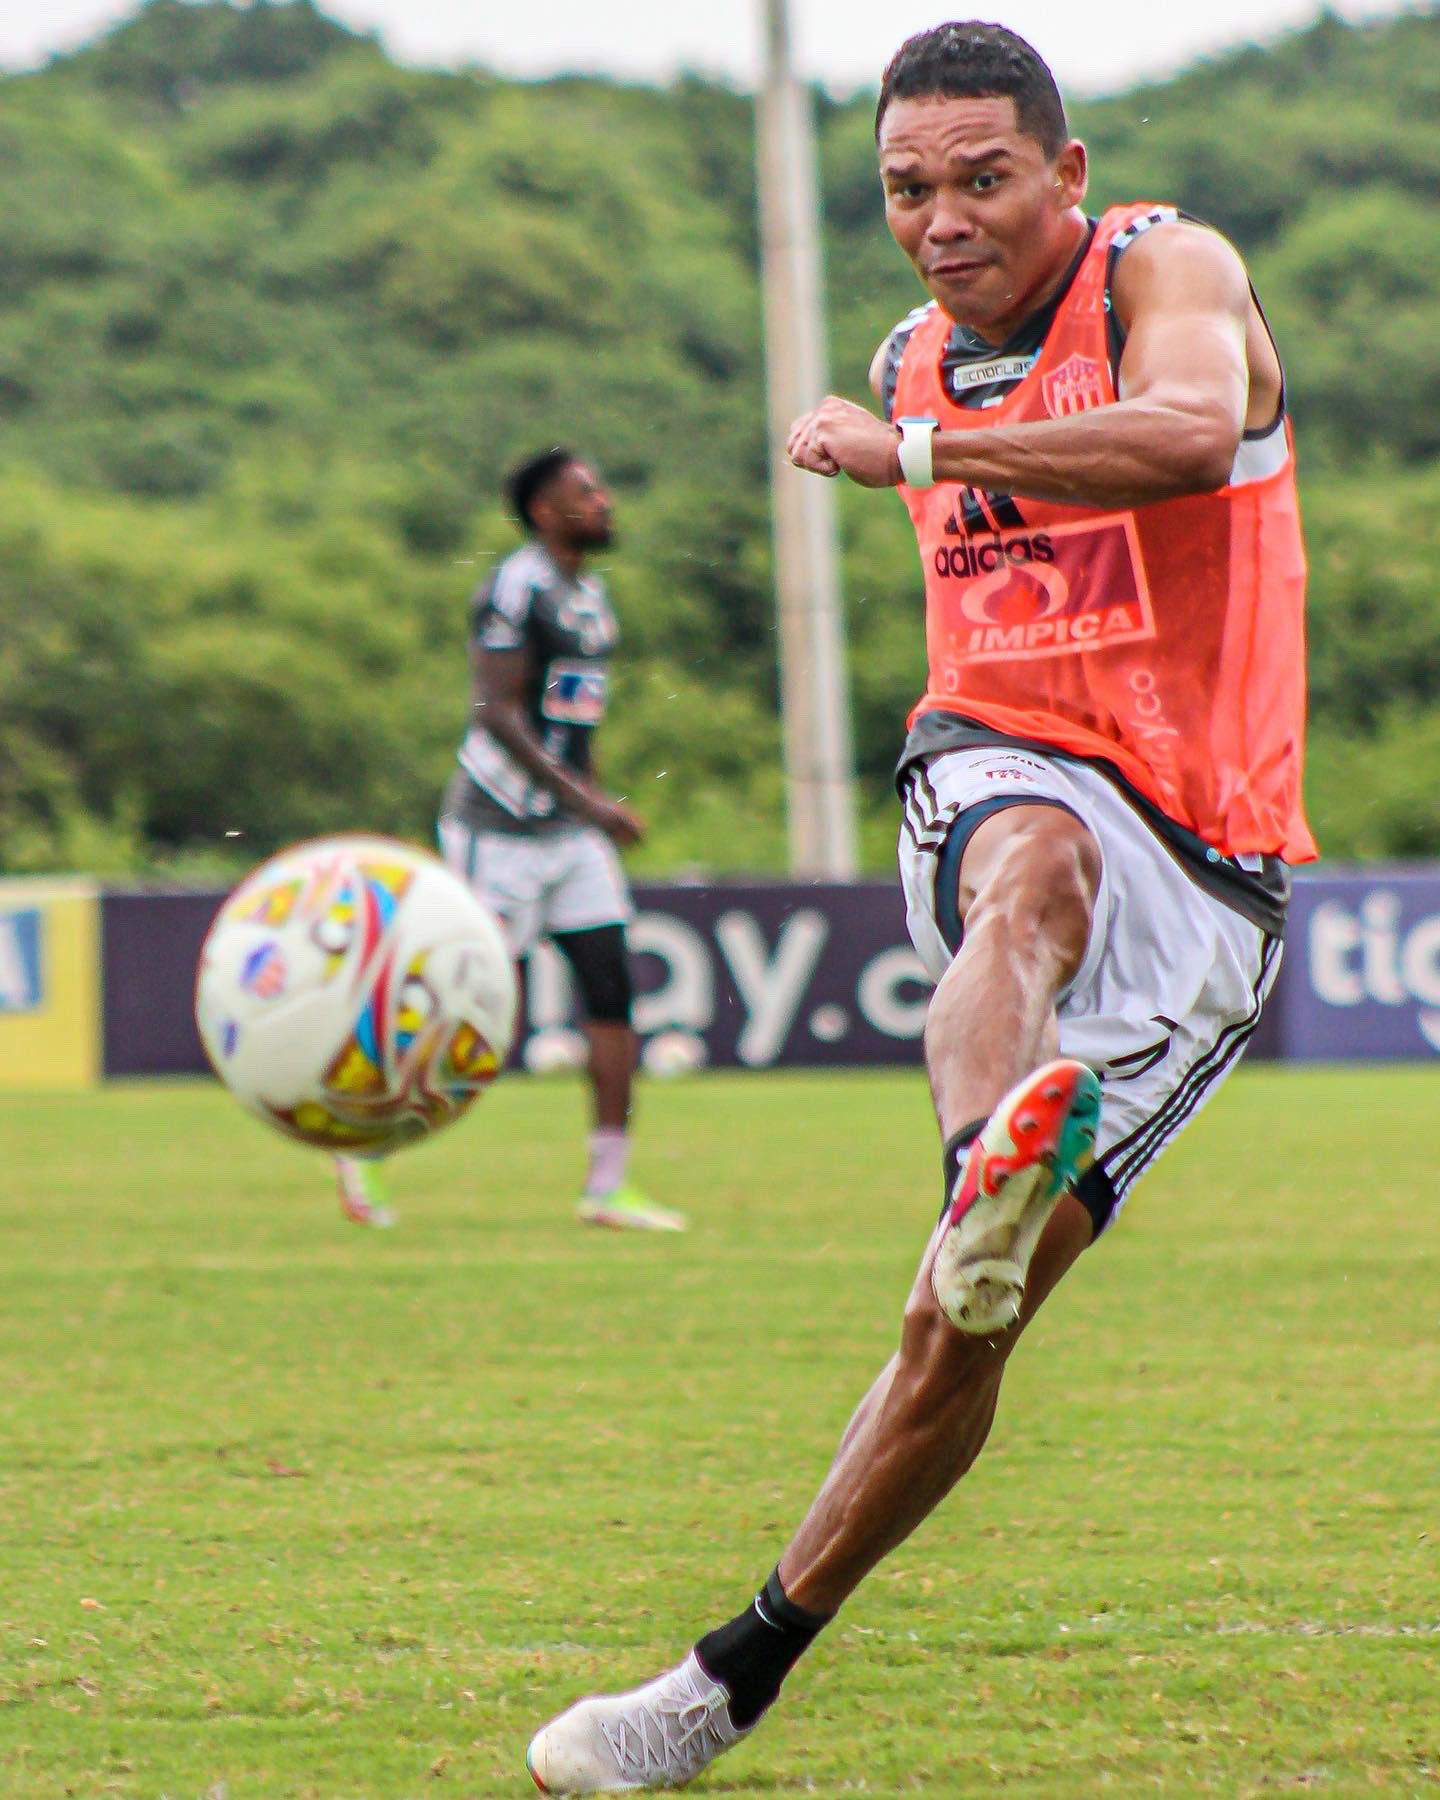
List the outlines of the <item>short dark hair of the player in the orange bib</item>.
<svg viewBox="0 0 1440 1800">
<path fill-rule="evenodd" d="M 1039 139 L 1046 157 L 1069 139 L 1066 106 L 1049 65 L 1004 25 L 952 20 L 905 38 L 880 79 L 875 140 L 891 101 L 1013 99 L 1021 130 Z"/>
</svg>

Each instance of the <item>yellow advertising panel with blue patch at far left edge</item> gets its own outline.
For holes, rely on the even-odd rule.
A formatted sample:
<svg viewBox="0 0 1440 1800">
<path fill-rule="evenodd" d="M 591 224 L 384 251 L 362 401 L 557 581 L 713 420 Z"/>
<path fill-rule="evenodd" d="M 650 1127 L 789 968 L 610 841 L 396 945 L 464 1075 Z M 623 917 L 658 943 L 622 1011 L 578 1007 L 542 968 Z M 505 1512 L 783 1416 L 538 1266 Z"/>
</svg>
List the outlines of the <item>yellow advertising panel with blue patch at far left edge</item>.
<svg viewBox="0 0 1440 1800">
<path fill-rule="evenodd" d="M 0 880 L 0 1089 L 99 1078 L 99 934 L 88 882 Z"/>
</svg>

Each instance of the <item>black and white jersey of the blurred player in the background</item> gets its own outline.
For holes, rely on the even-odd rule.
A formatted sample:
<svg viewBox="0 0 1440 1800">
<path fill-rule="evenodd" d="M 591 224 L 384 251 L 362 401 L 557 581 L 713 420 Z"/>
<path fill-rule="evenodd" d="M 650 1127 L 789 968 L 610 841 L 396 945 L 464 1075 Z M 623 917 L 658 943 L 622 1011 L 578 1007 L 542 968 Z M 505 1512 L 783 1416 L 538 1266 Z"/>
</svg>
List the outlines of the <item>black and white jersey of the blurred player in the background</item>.
<svg viewBox="0 0 1440 1800">
<path fill-rule="evenodd" d="M 542 544 L 526 544 L 493 571 L 470 601 L 470 641 L 481 650 L 529 655 L 524 711 L 547 754 L 578 774 L 605 716 L 608 659 L 619 626 L 596 576 L 569 576 Z M 549 788 L 506 747 L 472 724 L 445 794 L 446 817 L 486 832 L 544 833 L 574 824 Z"/>
</svg>

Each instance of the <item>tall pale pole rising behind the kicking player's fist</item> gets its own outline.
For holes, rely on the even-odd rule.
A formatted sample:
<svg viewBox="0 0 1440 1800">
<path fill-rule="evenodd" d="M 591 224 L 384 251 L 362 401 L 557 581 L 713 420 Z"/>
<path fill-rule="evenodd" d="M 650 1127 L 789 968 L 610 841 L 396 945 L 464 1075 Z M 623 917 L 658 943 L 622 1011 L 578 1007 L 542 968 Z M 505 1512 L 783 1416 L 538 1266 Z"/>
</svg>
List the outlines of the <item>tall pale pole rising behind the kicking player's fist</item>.
<svg viewBox="0 0 1440 1800">
<path fill-rule="evenodd" d="M 815 137 L 790 67 L 788 0 L 763 5 L 760 245 L 790 871 L 850 880 L 855 796 L 835 490 L 785 455 L 790 421 L 826 387 Z"/>
</svg>

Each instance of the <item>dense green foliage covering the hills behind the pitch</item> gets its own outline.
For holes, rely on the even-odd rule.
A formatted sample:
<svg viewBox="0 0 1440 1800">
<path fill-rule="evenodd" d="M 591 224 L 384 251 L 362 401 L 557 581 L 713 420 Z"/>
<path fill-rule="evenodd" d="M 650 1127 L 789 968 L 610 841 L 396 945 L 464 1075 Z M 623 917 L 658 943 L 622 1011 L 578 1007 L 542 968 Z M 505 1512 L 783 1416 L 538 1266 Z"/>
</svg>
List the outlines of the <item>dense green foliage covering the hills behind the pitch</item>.
<svg viewBox="0 0 1440 1800">
<path fill-rule="evenodd" d="M 821 101 L 835 385 L 914 301 L 871 99 Z M 1440 16 L 1076 108 L 1093 200 L 1242 245 L 1285 349 L 1332 855 L 1440 851 Z M 151 0 L 0 81 L 0 868 L 425 835 L 502 468 L 616 482 L 605 760 L 652 869 L 783 866 L 749 103 L 392 67 L 310 0 Z M 922 673 L 900 508 L 842 493 L 866 850 Z M 239 835 L 227 835 L 239 833 Z"/>
</svg>

